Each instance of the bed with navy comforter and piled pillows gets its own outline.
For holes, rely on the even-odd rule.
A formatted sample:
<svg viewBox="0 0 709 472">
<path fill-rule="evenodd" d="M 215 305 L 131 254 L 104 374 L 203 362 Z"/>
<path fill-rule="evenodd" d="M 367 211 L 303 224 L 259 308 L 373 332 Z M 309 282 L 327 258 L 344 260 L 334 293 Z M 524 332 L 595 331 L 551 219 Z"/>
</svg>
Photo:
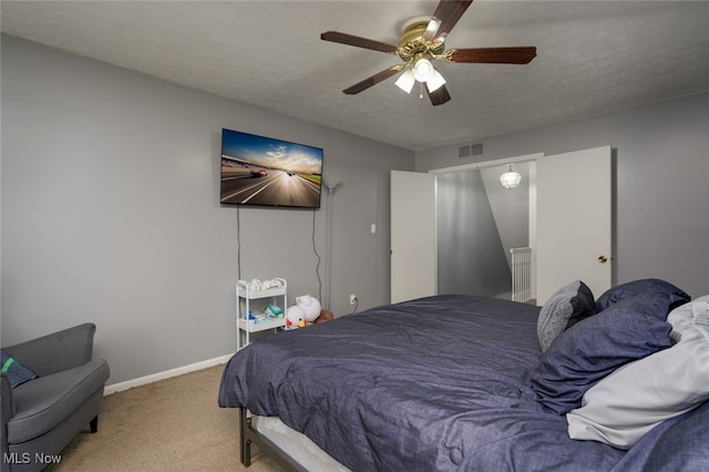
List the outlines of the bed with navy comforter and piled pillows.
<svg viewBox="0 0 709 472">
<path fill-rule="evenodd" d="M 703 471 L 708 329 L 709 297 L 658 279 L 427 297 L 258 340 L 218 401 L 245 465 L 255 443 L 295 470 Z"/>
</svg>

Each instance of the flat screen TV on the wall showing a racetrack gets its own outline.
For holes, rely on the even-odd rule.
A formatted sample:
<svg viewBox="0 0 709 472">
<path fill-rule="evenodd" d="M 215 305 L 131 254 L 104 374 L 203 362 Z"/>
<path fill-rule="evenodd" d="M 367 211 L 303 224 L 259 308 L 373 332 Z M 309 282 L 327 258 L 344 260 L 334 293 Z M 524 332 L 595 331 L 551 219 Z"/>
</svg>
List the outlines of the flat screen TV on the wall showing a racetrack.
<svg viewBox="0 0 709 472">
<path fill-rule="evenodd" d="M 321 148 L 222 130 L 223 204 L 319 208 L 321 188 Z"/>
</svg>

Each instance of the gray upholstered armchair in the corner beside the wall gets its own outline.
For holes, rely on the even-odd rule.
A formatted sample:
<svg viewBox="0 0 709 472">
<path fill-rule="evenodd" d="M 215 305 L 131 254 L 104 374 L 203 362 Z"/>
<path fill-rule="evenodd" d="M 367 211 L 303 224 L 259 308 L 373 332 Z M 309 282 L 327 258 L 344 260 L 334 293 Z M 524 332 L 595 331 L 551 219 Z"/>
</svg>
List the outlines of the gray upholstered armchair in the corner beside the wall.
<svg viewBox="0 0 709 472">
<path fill-rule="evenodd" d="M 2 472 L 42 470 L 88 424 L 96 431 L 109 365 L 91 360 L 95 331 L 83 324 L 2 348 L 37 374 L 12 388 L 2 372 Z"/>
</svg>

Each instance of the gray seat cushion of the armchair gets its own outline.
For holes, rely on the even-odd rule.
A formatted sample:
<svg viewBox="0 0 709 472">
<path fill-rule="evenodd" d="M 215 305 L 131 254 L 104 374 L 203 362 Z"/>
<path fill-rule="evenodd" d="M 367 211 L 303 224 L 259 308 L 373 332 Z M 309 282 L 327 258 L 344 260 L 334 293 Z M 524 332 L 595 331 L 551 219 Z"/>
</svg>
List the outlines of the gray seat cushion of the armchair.
<svg viewBox="0 0 709 472">
<path fill-rule="evenodd" d="M 92 360 L 16 388 L 17 413 L 8 421 L 8 443 L 19 444 L 50 431 L 103 389 L 109 373 L 105 360 Z"/>
</svg>

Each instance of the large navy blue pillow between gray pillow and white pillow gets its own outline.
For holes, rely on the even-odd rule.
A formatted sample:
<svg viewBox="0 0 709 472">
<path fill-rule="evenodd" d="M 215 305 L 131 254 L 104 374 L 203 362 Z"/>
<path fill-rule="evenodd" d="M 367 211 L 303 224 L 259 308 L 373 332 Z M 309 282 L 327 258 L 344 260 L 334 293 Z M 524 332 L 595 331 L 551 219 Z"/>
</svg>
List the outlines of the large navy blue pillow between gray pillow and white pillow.
<svg viewBox="0 0 709 472">
<path fill-rule="evenodd" d="M 562 332 L 531 373 L 544 409 L 565 414 L 586 390 L 618 367 L 670 347 L 672 297 L 655 291 L 626 298 Z"/>
</svg>

